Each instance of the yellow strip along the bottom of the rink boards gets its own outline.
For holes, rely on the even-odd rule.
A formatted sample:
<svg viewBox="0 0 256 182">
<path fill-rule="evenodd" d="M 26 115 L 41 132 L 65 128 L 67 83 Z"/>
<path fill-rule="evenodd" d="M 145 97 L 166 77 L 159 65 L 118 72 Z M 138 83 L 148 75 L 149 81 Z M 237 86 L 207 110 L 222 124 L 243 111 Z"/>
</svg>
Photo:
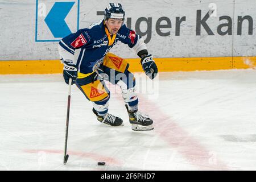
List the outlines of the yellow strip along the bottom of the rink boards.
<svg viewBox="0 0 256 182">
<path fill-rule="evenodd" d="M 126 59 L 131 72 L 142 72 L 140 59 Z M 256 66 L 254 57 L 154 58 L 159 72 L 246 69 Z M 0 75 L 62 73 L 60 60 L 0 61 Z"/>
</svg>

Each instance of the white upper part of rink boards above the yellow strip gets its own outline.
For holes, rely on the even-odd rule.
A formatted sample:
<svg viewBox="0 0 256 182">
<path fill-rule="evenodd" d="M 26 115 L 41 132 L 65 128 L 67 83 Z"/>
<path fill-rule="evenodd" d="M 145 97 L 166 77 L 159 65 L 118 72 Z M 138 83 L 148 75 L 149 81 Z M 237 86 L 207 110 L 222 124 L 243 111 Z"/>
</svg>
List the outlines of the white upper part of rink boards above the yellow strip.
<svg viewBox="0 0 256 182">
<path fill-rule="evenodd" d="M 68 0 L 61 0 L 61 2 Z M 69 0 L 71 1 L 71 0 Z M 65 18 L 72 32 L 77 28 L 77 2 Z M 38 0 L 38 4 L 46 5 L 46 16 L 53 4 L 60 1 Z M 97 11 L 104 11 L 109 1 L 80 0 L 79 28 L 85 28 L 91 23 L 103 18 L 97 15 Z M 118 2 L 118 1 L 114 1 Z M 164 0 L 164 1 L 119 1 L 125 9 L 128 24 L 131 28 L 146 32 L 143 36 L 147 40 L 148 51 L 155 57 L 205 57 L 205 56 L 256 56 L 256 1 L 255 0 Z M 197 12 L 201 11 L 201 19 L 208 13 L 209 4 L 216 8 L 215 13 L 206 21 L 214 35 L 208 35 L 201 26 L 200 35 L 196 35 Z M 42 5 L 42 4 L 41 4 Z M 38 34 L 37 38 L 54 38 L 48 26 L 44 22 L 42 6 L 38 9 Z M 36 0 L 0 0 L 0 60 L 48 60 L 59 59 L 57 42 L 36 42 Z M 166 28 L 160 28 L 163 33 L 170 32 L 168 36 L 160 36 L 156 31 L 156 22 L 166 16 L 171 21 Z M 180 24 L 180 34 L 176 31 L 176 17 L 185 16 L 185 21 Z M 227 23 L 227 20 L 219 20 L 221 16 L 230 16 L 232 35 L 219 35 L 217 27 Z M 249 17 L 253 20 L 252 30 L 249 35 L 249 23 L 242 23 L 242 34 L 237 35 L 238 16 Z M 145 17 L 152 19 L 151 26 L 146 22 L 138 22 Z M 130 21 L 131 20 L 131 21 Z M 199 19 L 200 20 L 200 19 Z M 136 23 L 137 22 L 137 23 Z M 135 28 L 137 24 L 137 28 Z M 167 24 L 166 20 L 160 24 Z M 151 30 L 150 30 L 151 27 Z M 158 26 L 159 27 L 159 24 Z M 159 29 L 159 28 L 158 28 Z M 227 27 L 221 29 L 226 31 Z M 197 31 L 198 32 L 198 31 Z M 151 38 L 149 39 L 149 35 Z M 123 44 L 115 46 L 112 52 L 122 57 L 137 57 L 133 51 Z"/>
</svg>

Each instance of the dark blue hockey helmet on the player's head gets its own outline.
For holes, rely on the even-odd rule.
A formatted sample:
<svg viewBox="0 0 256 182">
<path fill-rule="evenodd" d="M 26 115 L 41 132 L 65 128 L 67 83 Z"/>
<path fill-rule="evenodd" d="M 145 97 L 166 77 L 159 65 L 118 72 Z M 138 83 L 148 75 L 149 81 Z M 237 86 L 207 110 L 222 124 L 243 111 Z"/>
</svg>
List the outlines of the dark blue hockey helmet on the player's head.
<svg viewBox="0 0 256 182">
<path fill-rule="evenodd" d="M 108 18 L 115 19 L 125 19 L 125 11 L 122 9 L 122 5 L 120 3 L 109 3 L 105 9 L 104 19 Z"/>
</svg>

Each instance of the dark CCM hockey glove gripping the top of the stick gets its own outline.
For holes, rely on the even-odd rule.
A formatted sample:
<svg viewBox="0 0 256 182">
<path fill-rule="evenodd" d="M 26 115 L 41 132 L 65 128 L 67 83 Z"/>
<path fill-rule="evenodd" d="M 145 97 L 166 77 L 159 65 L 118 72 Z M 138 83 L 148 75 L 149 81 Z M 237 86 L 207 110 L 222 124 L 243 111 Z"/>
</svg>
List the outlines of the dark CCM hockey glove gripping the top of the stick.
<svg viewBox="0 0 256 182">
<path fill-rule="evenodd" d="M 72 85 L 75 84 L 76 78 L 77 78 L 76 65 L 69 64 L 67 62 L 64 62 L 63 64 L 64 64 L 64 67 L 63 67 L 63 77 L 64 77 L 64 80 L 65 80 L 66 84 L 68 84 L 69 78 L 72 78 L 71 84 Z"/>
</svg>

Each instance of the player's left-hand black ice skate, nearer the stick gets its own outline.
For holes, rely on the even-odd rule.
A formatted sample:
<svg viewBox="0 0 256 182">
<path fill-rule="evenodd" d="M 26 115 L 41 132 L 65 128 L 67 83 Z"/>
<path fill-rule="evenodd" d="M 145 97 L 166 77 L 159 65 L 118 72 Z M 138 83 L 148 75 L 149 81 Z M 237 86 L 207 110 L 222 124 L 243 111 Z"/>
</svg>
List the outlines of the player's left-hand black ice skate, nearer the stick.
<svg viewBox="0 0 256 182">
<path fill-rule="evenodd" d="M 98 115 L 97 111 L 93 108 L 93 113 L 96 114 L 98 121 L 110 126 L 120 126 L 123 123 L 121 118 L 118 118 L 112 114 L 107 113 L 104 117 Z"/>
</svg>

